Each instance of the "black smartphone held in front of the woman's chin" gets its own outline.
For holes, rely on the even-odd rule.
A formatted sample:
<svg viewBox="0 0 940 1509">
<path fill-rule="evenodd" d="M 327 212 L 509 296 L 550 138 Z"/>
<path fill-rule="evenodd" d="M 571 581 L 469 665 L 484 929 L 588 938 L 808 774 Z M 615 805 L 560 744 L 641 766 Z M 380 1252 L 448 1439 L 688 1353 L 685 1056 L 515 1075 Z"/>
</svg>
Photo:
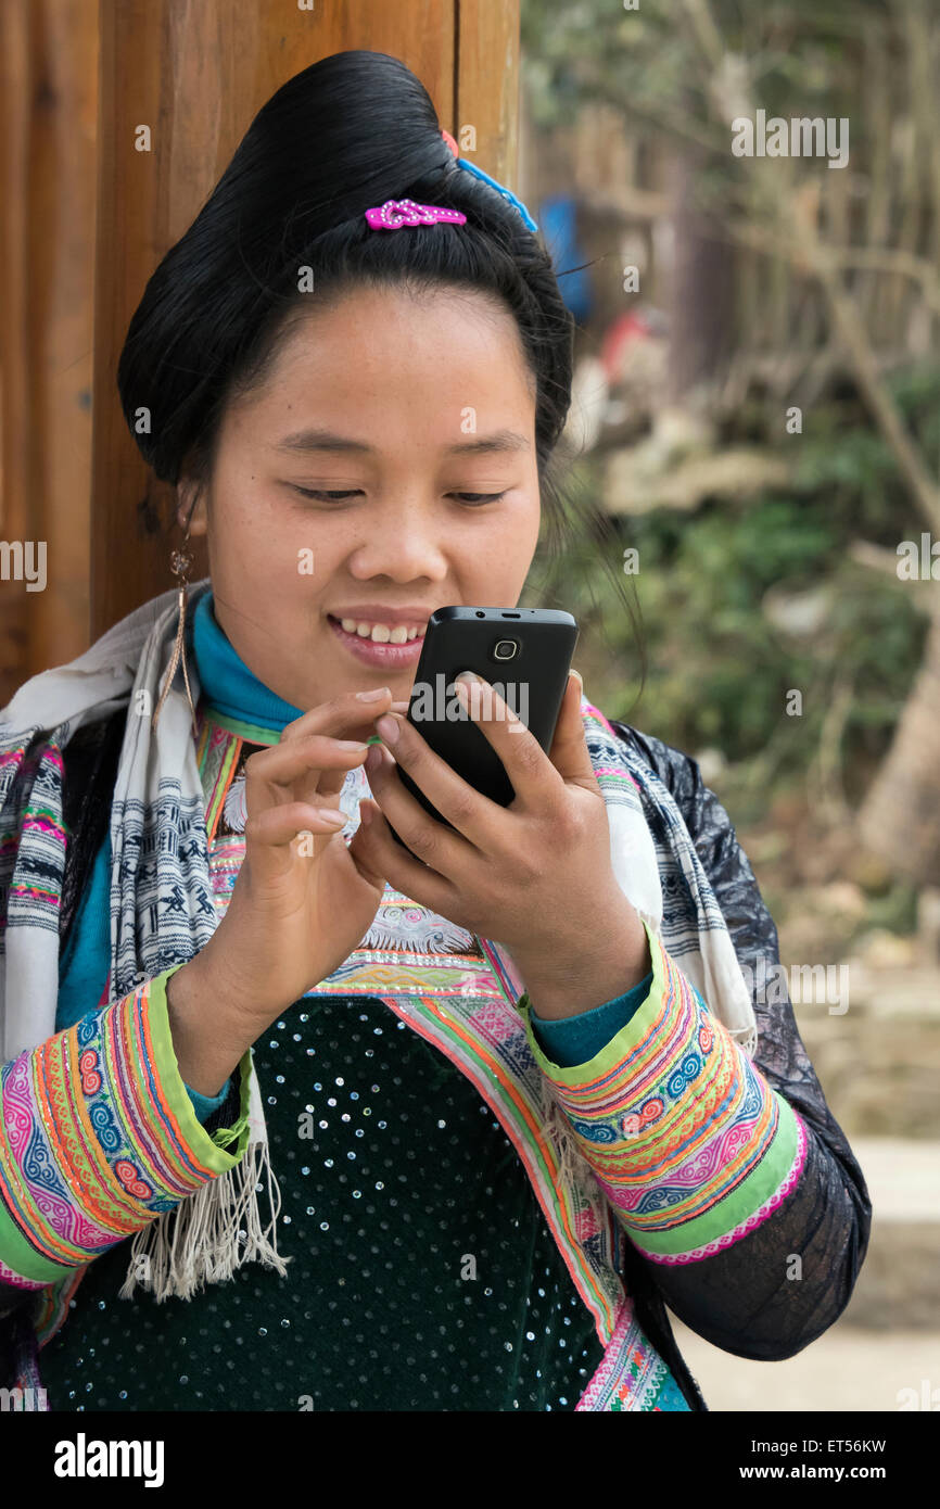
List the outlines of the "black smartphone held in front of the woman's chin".
<svg viewBox="0 0 940 1509">
<path fill-rule="evenodd" d="M 515 797 L 511 782 L 460 706 L 454 678 L 472 670 L 490 682 L 548 753 L 576 641 L 575 619 L 555 608 L 436 608 L 424 634 L 407 721 L 468 785 L 507 807 Z M 451 825 L 401 767 L 398 779 L 432 818 Z"/>
</svg>

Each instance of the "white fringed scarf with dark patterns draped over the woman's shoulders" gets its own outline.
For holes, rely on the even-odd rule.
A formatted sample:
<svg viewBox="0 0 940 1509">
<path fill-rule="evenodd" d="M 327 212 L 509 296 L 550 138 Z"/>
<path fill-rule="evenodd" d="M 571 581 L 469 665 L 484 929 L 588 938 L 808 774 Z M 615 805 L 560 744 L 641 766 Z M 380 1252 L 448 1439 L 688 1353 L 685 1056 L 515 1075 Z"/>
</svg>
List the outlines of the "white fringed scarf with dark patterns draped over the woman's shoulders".
<svg viewBox="0 0 940 1509">
<path fill-rule="evenodd" d="M 204 578 L 189 590 L 195 610 Z M 112 987 L 118 1000 L 145 979 L 198 954 L 219 916 L 213 902 L 205 806 L 183 676 L 158 705 L 177 637 L 170 589 L 107 631 L 66 665 L 27 681 L 0 712 L 0 1031 L 9 1061 L 56 1032 L 59 907 L 65 871 L 60 750 L 84 723 L 128 708 L 112 801 Z M 189 665 L 193 700 L 198 668 Z M 30 759 L 33 739 L 39 739 Z M 607 803 L 614 875 L 640 916 L 741 1047 L 756 1049 L 756 1023 L 727 927 L 670 792 L 620 739 L 588 738 Z M 625 780 L 623 773 L 632 779 Z M 365 791 L 350 773 L 344 798 Z M 347 777 L 349 780 L 349 777 Z M 27 822 L 41 801 L 48 821 Z M 344 801 L 346 810 L 350 810 Z M 652 828 L 650 828 L 650 819 Z M 358 821 L 358 815 L 356 815 Z M 352 821 L 350 821 L 352 827 Z M 41 877 L 41 886 L 35 880 Z M 664 916 L 664 889 L 670 905 Z M 442 937 L 448 924 L 442 922 Z M 368 934 L 367 934 L 368 937 Z M 121 1289 L 136 1283 L 190 1298 L 247 1262 L 287 1274 L 276 1246 L 281 1194 L 269 1162 L 257 1074 L 250 1076 L 249 1147 L 238 1166 L 210 1180 L 137 1233 Z M 270 1216 L 258 1201 L 267 1188 Z M 140 1259 L 148 1262 L 142 1263 Z"/>
</svg>

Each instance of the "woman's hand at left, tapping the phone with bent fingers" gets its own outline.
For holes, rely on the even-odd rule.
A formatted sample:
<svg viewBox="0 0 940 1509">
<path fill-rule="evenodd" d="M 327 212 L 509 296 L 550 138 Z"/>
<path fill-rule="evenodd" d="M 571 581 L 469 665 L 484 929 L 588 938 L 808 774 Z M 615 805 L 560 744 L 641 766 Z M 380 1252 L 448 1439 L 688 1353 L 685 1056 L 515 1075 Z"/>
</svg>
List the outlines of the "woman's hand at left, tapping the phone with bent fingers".
<svg viewBox="0 0 940 1509">
<path fill-rule="evenodd" d="M 347 847 L 338 798 L 392 706 L 388 687 L 324 702 L 244 762 L 244 859 L 198 961 L 255 1035 L 332 975 L 376 916 L 385 880 Z"/>
</svg>

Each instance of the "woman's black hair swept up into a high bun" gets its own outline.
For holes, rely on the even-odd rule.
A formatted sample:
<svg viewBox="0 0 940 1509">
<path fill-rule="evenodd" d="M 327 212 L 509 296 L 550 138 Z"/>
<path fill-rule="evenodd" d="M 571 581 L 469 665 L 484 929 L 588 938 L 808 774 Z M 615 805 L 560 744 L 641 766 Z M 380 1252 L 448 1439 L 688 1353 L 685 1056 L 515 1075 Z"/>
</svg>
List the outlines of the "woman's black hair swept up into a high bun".
<svg viewBox="0 0 940 1509">
<path fill-rule="evenodd" d="M 465 225 L 373 231 L 386 199 L 447 205 Z M 312 293 L 300 291 L 305 269 Z M 548 250 L 490 184 L 457 166 L 421 80 L 386 53 L 350 50 L 288 78 L 261 107 L 202 210 L 149 278 L 118 362 L 134 441 L 155 475 L 211 475 L 229 400 L 264 380 L 294 315 L 356 285 L 472 288 L 516 321 L 536 386 L 536 457 L 549 554 L 616 531 L 560 486 L 573 317 Z M 136 415 L 149 410 L 149 432 Z M 610 555 L 613 557 L 613 548 Z M 634 617 L 623 578 L 602 557 Z"/>
</svg>

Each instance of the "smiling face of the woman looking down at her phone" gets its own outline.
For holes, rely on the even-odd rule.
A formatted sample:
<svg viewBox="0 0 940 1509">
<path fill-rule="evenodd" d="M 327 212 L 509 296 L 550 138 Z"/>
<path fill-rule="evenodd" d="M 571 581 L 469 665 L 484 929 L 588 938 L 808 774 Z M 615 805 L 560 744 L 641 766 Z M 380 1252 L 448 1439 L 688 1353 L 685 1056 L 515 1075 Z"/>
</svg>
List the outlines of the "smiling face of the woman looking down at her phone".
<svg viewBox="0 0 940 1509">
<path fill-rule="evenodd" d="M 539 537 L 534 424 L 516 324 L 472 291 L 358 290 L 296 323 L 229 404 L 192 519 L 255 676 L 302 712 L 368 687 L 406 699 L 435 608 L 515 607 Z M 192 496 L 183 481 L 181 519 Z"/>
</svg>

